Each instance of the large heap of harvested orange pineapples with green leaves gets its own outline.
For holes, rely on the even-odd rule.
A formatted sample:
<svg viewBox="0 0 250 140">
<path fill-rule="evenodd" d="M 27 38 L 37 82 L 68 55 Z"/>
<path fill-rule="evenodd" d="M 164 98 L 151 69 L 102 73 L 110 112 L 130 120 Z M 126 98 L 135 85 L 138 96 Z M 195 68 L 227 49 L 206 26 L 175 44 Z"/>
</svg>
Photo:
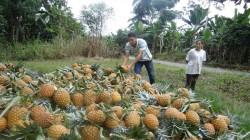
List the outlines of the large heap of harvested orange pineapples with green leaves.
<svg viewBox="0 0 250 140">
<path fill-rule="evenodd" d="M 38 74 L 0 64 L 0 139 L 196 140 L 240 136 L 185 88 L 168 92 L 124 67 L 75 63 Z"/>
</svg>

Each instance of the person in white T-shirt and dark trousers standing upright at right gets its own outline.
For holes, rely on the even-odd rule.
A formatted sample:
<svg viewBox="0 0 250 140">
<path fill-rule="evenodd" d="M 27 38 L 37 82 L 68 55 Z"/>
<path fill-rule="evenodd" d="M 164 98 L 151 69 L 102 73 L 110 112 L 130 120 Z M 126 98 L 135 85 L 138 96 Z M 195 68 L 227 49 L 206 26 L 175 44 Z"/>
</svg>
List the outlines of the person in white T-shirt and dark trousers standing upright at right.
<svg viewBox="0 0 250 140">
<path fill-rule="evenodd" d="M 206 61 L 206 52 L 203 50 L 203 41 L 196 40 L 195 48 L 191 49 L 186 56 L 186 88 L 195 89 L 196 81 L 201 74 L 203 61 Z"/>
</svg>

